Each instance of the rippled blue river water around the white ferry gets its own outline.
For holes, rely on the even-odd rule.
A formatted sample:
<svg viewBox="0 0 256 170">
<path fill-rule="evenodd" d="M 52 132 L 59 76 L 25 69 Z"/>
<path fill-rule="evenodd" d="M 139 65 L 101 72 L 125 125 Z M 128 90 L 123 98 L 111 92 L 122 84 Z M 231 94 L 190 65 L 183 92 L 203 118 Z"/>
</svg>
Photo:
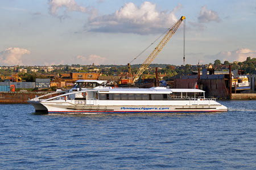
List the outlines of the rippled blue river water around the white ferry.
<svg viewBox="0 0 256 170">
<path fill-rule="evenodd" d="M 0 169 L 256 169 L 256 101 L 221 113 L 35 114 L 0 105 Z"/>
</svg>

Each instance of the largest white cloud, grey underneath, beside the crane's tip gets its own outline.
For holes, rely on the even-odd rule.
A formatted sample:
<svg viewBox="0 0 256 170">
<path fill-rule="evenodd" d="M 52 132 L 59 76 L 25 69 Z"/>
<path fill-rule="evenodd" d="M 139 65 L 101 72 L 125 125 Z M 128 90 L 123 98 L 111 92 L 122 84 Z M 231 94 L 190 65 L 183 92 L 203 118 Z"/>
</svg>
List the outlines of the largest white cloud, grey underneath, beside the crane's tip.
<svg viewBox="0 0 256 170">
<path fill-rule="evenodd" d="M 139 7 L 129 2 L 113 14 L 90 19 L 86 27 L 89 27 L 89 31 L 93 32 L 138 34 L 163 32 L 177 22 L 175 12 L 181 7 L 179 4 L 171 12 L 168 12 L 158 11 L 156 4 L 148 1 L 143 2 Z"/>
</svg>

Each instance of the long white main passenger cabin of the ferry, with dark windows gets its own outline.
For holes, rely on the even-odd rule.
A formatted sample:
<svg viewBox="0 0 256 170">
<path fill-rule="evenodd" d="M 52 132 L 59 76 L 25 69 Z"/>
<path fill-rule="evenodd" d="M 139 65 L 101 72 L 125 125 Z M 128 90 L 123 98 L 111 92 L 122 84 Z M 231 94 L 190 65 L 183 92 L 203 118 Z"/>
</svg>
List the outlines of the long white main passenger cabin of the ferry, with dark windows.
<svg viewBox="0 0 256 170">
<path fill-rule="evenodd" d="M 96 89 L 86 91 L 86 98 L 90 100 L 188 100 L 196 97 L 205 98 L 204 91 L 198 89 L 167 89 L 165 87 Z"/>
</svg>

